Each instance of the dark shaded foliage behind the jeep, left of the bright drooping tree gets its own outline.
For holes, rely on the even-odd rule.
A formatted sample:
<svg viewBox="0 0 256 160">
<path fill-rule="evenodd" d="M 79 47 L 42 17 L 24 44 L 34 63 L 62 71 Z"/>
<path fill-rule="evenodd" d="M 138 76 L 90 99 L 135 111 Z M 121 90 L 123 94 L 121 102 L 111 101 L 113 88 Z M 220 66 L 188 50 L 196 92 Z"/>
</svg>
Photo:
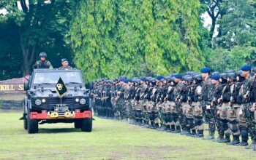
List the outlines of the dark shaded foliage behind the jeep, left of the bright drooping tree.
<svg viewBox="0 0 256 160">
<path fill-rule="evenodd" d="M 31 72 L 39 52 L 48 53 L 53 66 L 71 58 L 68 41 L 71 1 L 0 1 L 0 79 Z"/>
</svg>

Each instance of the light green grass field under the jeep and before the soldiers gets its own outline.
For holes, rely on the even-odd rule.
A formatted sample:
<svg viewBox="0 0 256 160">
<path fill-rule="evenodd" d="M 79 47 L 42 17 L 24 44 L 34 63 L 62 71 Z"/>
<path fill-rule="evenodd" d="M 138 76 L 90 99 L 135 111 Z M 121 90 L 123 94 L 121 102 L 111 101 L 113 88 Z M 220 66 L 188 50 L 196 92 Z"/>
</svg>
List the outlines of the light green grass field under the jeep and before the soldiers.
<svg viewBox="0 0 256 160">
<path fill-rule="evenodd" d="M 255 151 L 95 118 L 93 132 L 42 124 L 29 135 L 21 113 L 0 113 L 0 159 L 256 159 Z"/>
</svg>

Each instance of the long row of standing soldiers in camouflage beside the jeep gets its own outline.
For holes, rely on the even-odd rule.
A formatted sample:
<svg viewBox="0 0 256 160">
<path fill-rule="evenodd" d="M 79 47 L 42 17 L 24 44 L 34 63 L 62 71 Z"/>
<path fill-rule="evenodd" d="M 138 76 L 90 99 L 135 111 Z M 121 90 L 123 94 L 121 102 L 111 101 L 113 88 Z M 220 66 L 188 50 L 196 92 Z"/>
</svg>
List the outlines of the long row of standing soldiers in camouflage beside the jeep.
<svg viewBox="0 0 256 160">
<path fill-rule="evenodd" d="M 201 73 L 189 71 L 183 76 L 97 79 L 91 92 L 94 114 L 256 151 L 255 75 L 256 68 L 243 65 L 239 71 L 224 73 L 202 68 Z"/>
</svg>

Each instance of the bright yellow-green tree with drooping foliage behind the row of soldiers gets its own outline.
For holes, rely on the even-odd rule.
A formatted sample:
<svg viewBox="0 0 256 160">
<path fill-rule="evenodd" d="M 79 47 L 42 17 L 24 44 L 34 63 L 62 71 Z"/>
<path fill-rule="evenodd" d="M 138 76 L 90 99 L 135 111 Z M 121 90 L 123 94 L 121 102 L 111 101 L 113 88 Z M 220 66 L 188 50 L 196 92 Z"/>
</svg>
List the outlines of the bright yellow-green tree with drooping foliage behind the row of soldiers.
<svg viewBox="0 0 256 160">
<path fill-rule="evenodd" d="M 198 70 L 199 1 L 80 1 L 70 28 L 87 80 Z"/>
</svg>

